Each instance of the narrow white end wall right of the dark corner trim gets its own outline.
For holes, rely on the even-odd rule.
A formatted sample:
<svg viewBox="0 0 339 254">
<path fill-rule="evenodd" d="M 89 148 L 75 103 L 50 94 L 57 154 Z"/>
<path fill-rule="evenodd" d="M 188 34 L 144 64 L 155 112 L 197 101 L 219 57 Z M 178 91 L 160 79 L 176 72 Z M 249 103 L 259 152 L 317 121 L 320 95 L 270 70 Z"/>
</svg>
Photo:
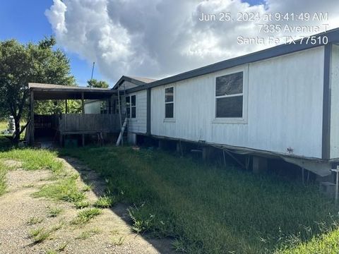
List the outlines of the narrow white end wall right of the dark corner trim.
<svg viewBox="0 0 339 254">
<path fill-rule="evenodd" d="M 331 159 L 339 158 L 339 46 L 333 45 L 331 62 Z"/>
</svg>

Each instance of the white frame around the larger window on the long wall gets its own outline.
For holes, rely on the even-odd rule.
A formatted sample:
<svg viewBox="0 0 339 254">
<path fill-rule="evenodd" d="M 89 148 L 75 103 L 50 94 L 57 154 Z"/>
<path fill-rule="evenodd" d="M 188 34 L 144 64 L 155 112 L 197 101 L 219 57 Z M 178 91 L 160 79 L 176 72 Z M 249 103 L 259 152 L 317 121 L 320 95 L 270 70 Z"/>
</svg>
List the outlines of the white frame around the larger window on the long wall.
<svg viewBox="0 0 339 254">
<path fill-rule="evenodd" d="M 223 71 L 214 75 L 214 90 L 213 90 L 213 99 L 214 99 L 214 116 L 212 123 L 247 123 L 247 93 L 248 93 L 248 68 L 249 65 L 243 68 L 232 69 L 231 71 Z M 217 78 L 225 75 L 232 75 L 235 73 L 242 73 L 242 93 L 236 95 L 221 95 L 217 96 Z M 217 117 L 217 99 L 226 98 L 226 97 L 239 97 L 242 96 L 242 117 Z"/>
</svg>

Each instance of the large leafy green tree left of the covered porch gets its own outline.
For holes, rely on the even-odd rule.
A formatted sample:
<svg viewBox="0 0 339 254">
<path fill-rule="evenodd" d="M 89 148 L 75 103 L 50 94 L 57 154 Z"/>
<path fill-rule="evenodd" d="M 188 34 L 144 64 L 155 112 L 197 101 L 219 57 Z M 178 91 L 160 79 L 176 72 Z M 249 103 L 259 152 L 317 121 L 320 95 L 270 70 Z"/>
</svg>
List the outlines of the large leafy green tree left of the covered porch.
<svg viewBox="0 0 339 254">
<path fill-rule="evenodd" d="M 53 49 L 55 44 L 54 37 L 37 44 L 0 42 L 0 111 L 14 117 L 16 142 L 25 128 L 20 130 L 20 119 L 28 109 L 28 83 L 75 85 L 69 59 L 60 49 Z"/>
</svg>

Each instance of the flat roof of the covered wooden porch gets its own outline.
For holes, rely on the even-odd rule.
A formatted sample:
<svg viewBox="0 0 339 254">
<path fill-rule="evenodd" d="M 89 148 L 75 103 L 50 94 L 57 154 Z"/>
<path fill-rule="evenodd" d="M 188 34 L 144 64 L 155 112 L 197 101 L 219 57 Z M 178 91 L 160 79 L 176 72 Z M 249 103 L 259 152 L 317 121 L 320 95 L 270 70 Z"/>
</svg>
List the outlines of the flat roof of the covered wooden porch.
<svg viewBox="0 0 339 254">
<path fill-rule="evenodd" d="M 117 90 L 93 87 L 77 87 L 29 83 L 28 89 L 33 92 L 35 100 L 45 99 L 106 99 L 117 94 Z"/>
</svg>

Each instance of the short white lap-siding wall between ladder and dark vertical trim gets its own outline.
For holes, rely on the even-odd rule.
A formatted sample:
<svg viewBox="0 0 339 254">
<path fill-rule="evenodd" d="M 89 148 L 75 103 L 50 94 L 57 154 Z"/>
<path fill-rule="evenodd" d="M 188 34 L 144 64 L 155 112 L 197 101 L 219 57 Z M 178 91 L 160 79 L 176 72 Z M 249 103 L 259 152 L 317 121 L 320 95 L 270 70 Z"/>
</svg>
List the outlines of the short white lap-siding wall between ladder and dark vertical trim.
<svg viewBox="0 0 339 254">
<path fill-rule="evenodd" d="M 136 119 L 129 119 L 129 133 L 142 133 L 147 131 L 147 91 L 141 90 L 129 95 L 136 95 Z"/>
</svg>

